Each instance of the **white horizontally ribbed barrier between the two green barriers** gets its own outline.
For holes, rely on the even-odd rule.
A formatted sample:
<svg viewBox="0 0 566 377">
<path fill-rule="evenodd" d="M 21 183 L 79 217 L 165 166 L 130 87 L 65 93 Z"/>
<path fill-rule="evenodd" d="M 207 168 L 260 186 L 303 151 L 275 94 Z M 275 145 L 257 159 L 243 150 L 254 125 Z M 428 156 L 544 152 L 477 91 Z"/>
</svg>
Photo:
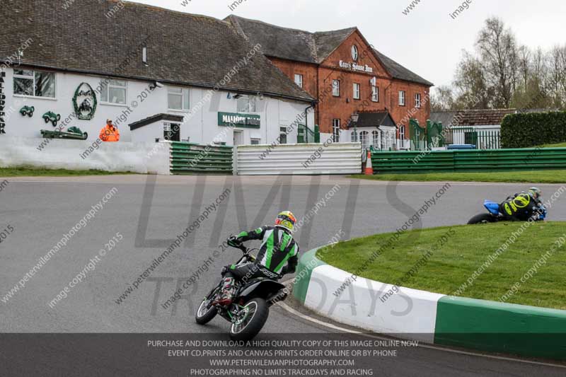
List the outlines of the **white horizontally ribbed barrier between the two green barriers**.
<svg viewBox="0 0 566 377">
<path fill-rule="evenodd" d="M 280 144 L 238 146 L 238 175 L 362 173 L 362 144 Z"/>
</svg>

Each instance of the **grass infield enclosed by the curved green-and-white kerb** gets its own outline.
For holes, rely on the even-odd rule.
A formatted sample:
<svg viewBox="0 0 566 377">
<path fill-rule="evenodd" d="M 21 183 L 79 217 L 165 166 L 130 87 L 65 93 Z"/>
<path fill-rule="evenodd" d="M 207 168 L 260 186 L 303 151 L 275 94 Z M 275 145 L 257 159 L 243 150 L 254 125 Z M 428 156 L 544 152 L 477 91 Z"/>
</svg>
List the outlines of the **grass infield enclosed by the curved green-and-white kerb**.
<svg viewBox="0 0 566 377">
<path fill-rule="evenodd" d="M 524 223 L 453 226 L 403 233 L 359 276 L 388 284 L 452 295 L 490 255 Z M 450 233 L 448 233 L 450 232 Z M 499 255 L 459 296 L 499 301 L 526 274 L 555 240 L 566 233 L 566 222 L 536 223 Z M 386 245 L 391 233 L 339 243 L 321 260 L 347 272 L 357 272 L 372 253 Z M 442 244 L 441 238 L 448 240 Z M 428 258 L 423 258 L 428 252 Z M 424 260 L 424 262 L 422 262 Z M 420 263 L 418 263 L 420 262 Z M 420 267 L 417 267 L 420 265 Z M 415 274 L 408 272 L 415 267 Z M 566 246 L 555 251 L 538 272 L 521 283 L 508 303 L 566 309 Z"/>
</svg>

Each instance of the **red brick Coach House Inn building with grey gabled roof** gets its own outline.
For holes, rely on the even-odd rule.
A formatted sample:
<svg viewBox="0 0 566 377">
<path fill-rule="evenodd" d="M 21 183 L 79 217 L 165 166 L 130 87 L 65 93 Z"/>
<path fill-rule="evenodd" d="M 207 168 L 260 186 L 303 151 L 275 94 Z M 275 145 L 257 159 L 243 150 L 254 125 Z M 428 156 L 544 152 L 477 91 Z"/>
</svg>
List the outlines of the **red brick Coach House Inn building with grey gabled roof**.
<svg viewBox="0 0 566 377">
<path fill-rule="evenodd" d="M 316 123 L 335 140 L 360 137 L 366 146 L 403 147 L 395 139 L 409 139 L 410 118 L 429 119 L 433 84 L 375 50 L 357 28 L 309 33 L 238 16 L 226 21 L 317 98 Z"/>
</svg>

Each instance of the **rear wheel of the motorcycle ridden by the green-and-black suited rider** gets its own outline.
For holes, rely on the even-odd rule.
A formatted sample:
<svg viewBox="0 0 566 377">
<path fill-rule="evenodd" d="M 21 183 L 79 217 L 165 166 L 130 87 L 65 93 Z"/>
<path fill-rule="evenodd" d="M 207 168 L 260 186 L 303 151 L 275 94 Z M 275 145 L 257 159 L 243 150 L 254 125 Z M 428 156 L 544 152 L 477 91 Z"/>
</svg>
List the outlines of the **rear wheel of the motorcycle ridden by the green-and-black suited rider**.
<svg viewBox="0 0 566 377">
<path fill-rule="evenodd" d="M 264 299 L 253 298 L 248 301 L 230 327 L 231 340 L 252 340 L 265 325 L 269 313 L 270 309 Z"/>
</svg>

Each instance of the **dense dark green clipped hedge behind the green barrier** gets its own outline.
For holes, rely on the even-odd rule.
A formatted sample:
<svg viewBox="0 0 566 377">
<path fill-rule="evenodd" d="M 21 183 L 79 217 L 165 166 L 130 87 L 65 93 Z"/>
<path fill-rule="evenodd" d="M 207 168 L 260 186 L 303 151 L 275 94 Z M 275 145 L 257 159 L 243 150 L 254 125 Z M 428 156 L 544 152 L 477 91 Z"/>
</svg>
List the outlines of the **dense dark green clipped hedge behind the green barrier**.
<svg viewBox="0 0 566 377">
<path fill-rule="evenodd" d="M 528 148 L 566 141 L 566 112 L 510 114 L 501 123 L 502 148 Z"/>
</svg>

